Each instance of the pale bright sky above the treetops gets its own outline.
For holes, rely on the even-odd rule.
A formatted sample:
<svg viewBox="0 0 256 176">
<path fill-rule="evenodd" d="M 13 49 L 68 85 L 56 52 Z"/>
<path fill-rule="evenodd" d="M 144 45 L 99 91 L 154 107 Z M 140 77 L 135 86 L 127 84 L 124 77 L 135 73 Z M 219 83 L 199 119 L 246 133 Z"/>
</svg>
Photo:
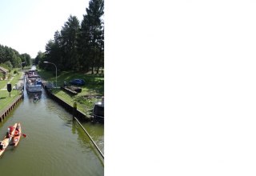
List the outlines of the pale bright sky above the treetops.
<svg viewBox="0 0 256 176">
<path fill-rule="evenodd" d="M 1 0 L 0 44 L 35 58 L 70 14 L 82 22 L 88 6 L 89 0 Z"/>
</svg>

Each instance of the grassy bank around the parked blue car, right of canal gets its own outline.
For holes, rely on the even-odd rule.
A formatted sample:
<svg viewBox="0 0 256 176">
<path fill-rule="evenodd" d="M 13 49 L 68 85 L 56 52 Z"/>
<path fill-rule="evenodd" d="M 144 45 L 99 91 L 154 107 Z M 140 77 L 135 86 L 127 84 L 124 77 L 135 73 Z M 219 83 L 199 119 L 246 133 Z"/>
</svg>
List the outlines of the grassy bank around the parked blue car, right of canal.
<svg viewBox="0 0 256 176">
<path fill-rule="evenodd" d="M 38 70 L 38 74 L 40 74 L 42 79 L 48 82 L 55 82 L 55 72 Z M 74 78 L 82 78 L 86 82 L 86 85 L 79 86 L 82 88 L 81 93 L 78 93 L 77 95 L 69 94 L 60 88 L 53 89 L 52 93 L 69 103 L 71 106 L 73 106 L 74 102 L 77 102 L 78 110 L 81 110 L 88 115 L 90 109 L 93 108 L 94 102 L 97 101 L 97 97 L 102 97 L 104 95 L 104 75 L 62 72 L 58 73 L 57 85 L 63 86 L 64 82 L 68 83 Z M 98 98 L 98 100 L 100 100 L 100 98 Z"/>
</svg>

